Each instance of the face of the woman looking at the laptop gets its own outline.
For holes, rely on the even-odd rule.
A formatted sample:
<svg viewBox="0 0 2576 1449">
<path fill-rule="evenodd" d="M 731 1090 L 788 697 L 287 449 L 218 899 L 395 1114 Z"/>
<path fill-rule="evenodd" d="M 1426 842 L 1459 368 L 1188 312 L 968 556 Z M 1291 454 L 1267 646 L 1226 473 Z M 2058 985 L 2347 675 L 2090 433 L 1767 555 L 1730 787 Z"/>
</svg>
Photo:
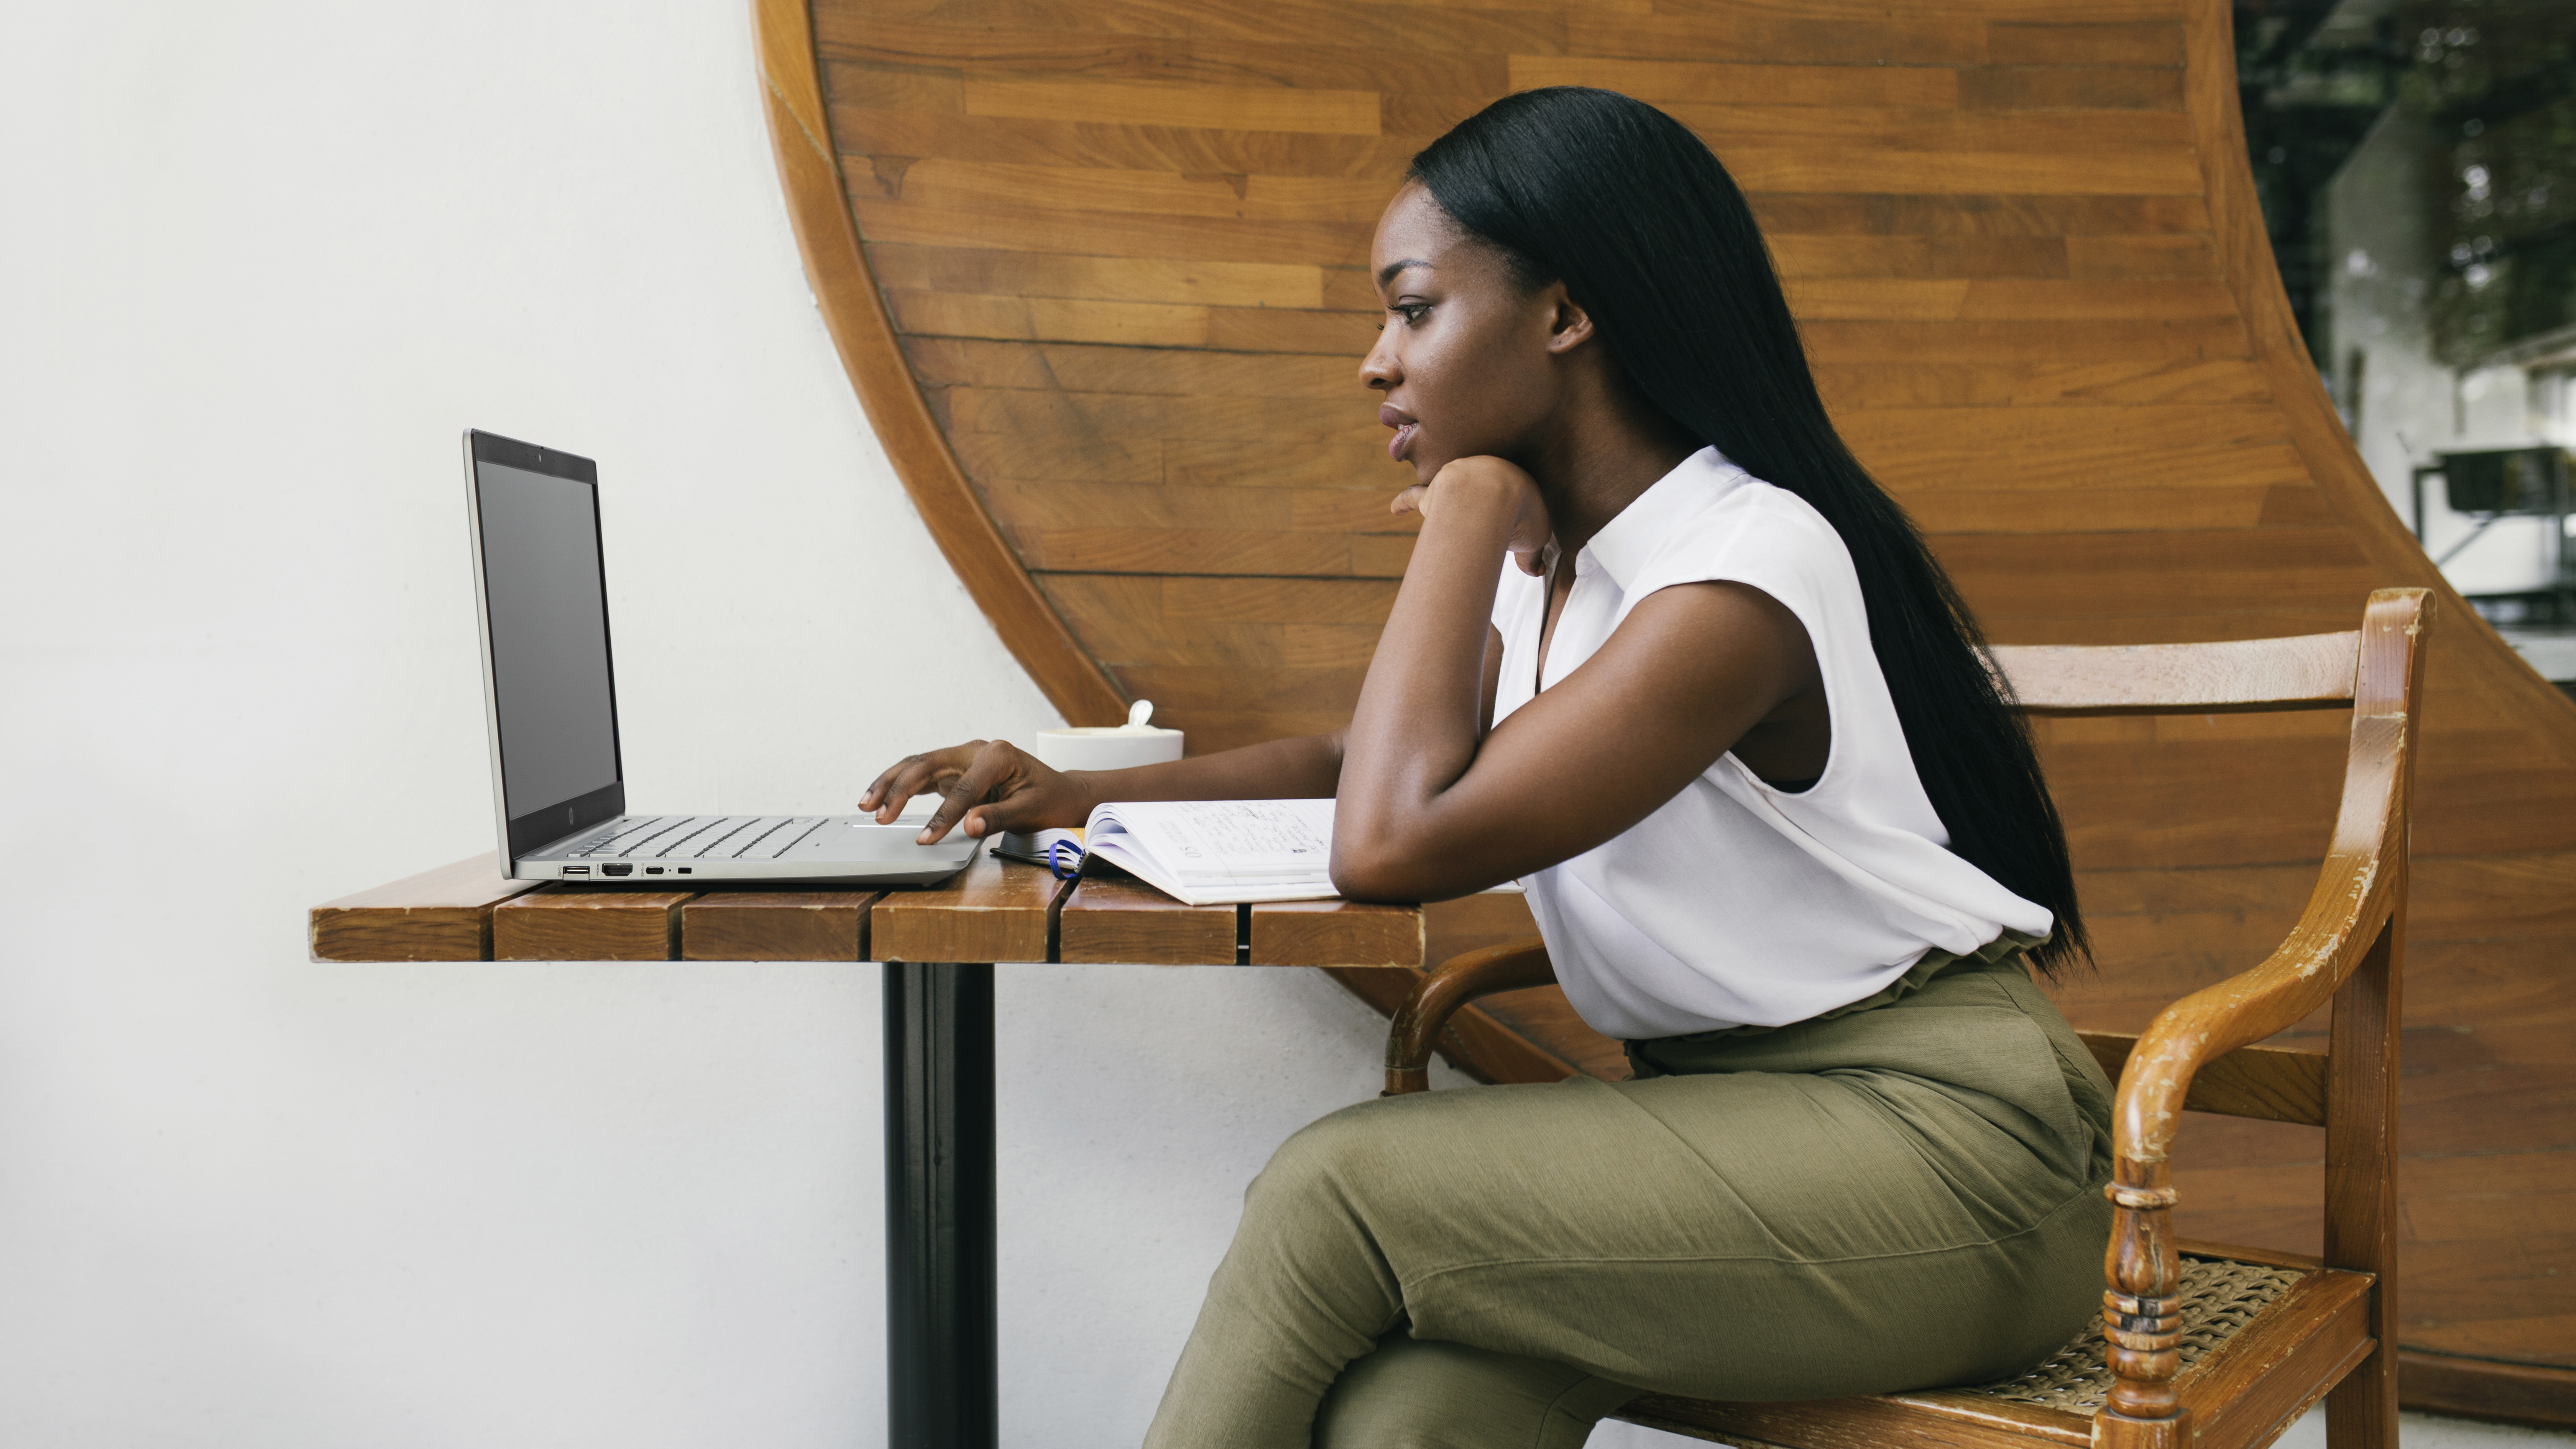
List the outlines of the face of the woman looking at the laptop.
<svg viewBox="0 0 2576 1449">
<path fill-rule="evenodd" d="M 1360 382 L 1396 431 L 1386 456 L 1430 482 L 1440 464 L 1492 454 L 1525 462 L 1564 405 L 1558 353 L 1592 335 L 1566 289 L 1520 289 L 1504 255 L 1468 237 L 1406 183 L 1368 250 L 1386 317 Z"/>
</svg>

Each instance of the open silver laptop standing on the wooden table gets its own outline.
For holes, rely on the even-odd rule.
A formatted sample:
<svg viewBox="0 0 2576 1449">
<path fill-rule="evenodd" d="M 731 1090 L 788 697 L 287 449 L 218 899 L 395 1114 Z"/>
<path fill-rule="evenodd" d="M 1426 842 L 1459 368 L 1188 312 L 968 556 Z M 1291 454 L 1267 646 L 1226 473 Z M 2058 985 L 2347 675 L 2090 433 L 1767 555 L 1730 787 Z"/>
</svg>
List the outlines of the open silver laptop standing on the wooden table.
<svg viewBox="0 0 2576 1449">
<path fill-rule="evenodd" d="M 974 859 L 963 830 L 868 815 L 634 815 L 618 753 L 600 469 L 466 433 L 492 807 L 510 879 L 585 884 L 927 884 Z"/>
</svg>

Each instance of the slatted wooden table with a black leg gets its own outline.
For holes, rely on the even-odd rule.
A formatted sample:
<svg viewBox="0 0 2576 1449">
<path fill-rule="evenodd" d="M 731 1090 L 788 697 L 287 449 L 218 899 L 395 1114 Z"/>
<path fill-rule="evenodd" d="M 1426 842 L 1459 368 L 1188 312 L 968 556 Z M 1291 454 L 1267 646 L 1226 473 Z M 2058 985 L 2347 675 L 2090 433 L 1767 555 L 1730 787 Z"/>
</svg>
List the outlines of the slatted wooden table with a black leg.
<svg viewBox="0 0 2576 1449">
<path fill-rule="evenodd" d="M 1422 908 L 1180 905 L 979 856 L 935 887 L 659 892 L 500 879 L 477 856 L 312 910 L 317 962 L 881 962 L 886 1418 L 994 1449 L 994 962 L 1419 969 Z"/>
</svg>

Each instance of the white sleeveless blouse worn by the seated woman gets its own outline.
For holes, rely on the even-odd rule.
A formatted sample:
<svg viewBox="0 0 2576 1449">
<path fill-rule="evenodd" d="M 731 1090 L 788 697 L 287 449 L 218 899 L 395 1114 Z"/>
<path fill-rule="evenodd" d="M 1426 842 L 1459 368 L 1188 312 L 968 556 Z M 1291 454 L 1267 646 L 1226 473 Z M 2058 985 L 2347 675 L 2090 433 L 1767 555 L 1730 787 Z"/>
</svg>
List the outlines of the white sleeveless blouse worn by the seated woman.
<svg viewBox="0 0 2576 1449">
<path fill-rule="evenodd" d="M 1834 745 L 1798 794 L 1718 755 L 1654 815 L 1522 879 L 1566 998 L 1623 1039 L 1783 1026 L 1883 990 L 1924 951 L 1968 954 L 2050 913 L 1947 851 L 1870 652 L 1860 575 L 1803 498 L 1700 449 L 1574 557 L 1548 678 L 1574 673 L 1659 588 L 1736 580 L 1806 624 Z M 1504 562 L 1497 724 L 1535 696 L 1548 583 Z"/>
</svg>

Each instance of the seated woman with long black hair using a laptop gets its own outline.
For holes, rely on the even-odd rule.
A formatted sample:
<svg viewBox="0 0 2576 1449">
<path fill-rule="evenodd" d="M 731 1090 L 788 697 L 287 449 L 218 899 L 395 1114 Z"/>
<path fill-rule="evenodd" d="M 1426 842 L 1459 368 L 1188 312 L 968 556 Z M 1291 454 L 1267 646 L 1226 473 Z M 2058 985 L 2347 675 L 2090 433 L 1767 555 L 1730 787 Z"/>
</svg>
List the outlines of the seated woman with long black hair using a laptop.
<svg viewBox="0 0 2576 1449">
<path fill-rule="evenodd" d="M 2025 969 L 2084 957 L 2066 843 L 1744 196 L 1649 106 L 1530 90 L 1414 157 L 1370 271 L 1422 536 L 1350 727 L 1115 773 L 958 745 L 860 804 L 943 789 L 930 841 L 1337 794 L 1345 895 L 1522 879 L 1636 1075 L 1291 1137 L 1146 1441 L 1571 1446 L 1641 1390 L 2035 1364 L 2110 1225 L 2110 1083 Z"/>
</svg>

